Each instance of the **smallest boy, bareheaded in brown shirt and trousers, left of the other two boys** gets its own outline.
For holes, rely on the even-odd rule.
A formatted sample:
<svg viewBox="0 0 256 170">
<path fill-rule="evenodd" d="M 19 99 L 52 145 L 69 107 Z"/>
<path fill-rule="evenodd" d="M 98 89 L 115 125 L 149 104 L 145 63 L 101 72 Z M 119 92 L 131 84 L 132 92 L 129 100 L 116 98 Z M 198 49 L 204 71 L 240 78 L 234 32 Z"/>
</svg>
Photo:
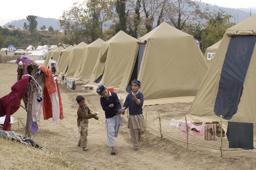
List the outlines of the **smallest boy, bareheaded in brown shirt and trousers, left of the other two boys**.
<svg viewBox="0 0 256 170">
<path fill-rule="evenodd" d="M 80 133 L 77 145 L 82 147 L 84 151 L 87 151 L 88 119 L 94 118 L 99 120 L 99 117 L 96 116 L 96 113 L 91 113 L 91 110 L 85 104 L 84 96 L 77 96 L 76 101 L 79 105 L 77 109 L 77 127 L 78 133 Z"/>
</svg>

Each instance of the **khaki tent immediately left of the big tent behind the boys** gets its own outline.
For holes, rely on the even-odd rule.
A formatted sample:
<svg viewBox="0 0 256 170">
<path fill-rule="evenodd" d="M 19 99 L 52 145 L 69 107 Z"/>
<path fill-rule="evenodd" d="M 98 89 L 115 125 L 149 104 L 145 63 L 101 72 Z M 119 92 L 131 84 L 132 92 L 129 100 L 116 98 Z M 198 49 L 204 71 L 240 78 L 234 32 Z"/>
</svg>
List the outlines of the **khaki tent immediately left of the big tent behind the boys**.
<svg viewBox="0 0 256 170">
<path fill-rule="evenodd" d="M 137 39 L 119 31 L 103 43 L 89 84 L 95 82 L 106 86 L 120 85 L 124 70 L 129 63 Z"/>
</svg>

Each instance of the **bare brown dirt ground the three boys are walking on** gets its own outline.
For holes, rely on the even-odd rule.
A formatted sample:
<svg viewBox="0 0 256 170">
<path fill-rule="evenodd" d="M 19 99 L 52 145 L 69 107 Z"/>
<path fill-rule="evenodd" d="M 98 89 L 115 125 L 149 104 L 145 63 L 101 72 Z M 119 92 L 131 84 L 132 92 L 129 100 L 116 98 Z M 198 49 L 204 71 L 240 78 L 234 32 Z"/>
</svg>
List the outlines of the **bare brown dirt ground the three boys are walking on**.
<svg viewBox="0 0 256 170">
<path fill-rule="evenodd" d="M 17 65 L 0 63 L 0 97 L 11 92 L 11 86 L 17 81 Z M 59 80 L 59 78 L 58 78 Z M 127 129 L 127 119 L 124 116 L 124 126 L 120 127 L 116 141 L 116 155 L 110 155 L 107 144 L 105 116 L 100 107 L 99 95 L 91 90 L 83 89 L 82 83 L 76 83 L 76 90 L 69 90 L 60 84 L 60 94 L 64 112 L 64 119 L 59 124 L 52 123 L 52 119 L 44 120 L 43 113 L 36 135 L 31 138 L 40 146 L 50 152 L 66 155 L 70 162 L 77 162 L 82 167 L 92 170 L 235 170 L 255 169 L 255 150 L 223 151 L 223 157 L 218 150 L 220 138 L 216 141 L 205 141 L 203 136 L 192 137 L 190 142 L 217 149 L 197 146 L 181 141 L 184 140 L 180 129 L 169 126 L 171 119 L 183 118 L 191 106 L 191 103 L 173 103 L 143 107 L 144 117 L 147 119 L 147 131 L 142 136 L 140 149 L 133 151 L 130 131 Z M 116 91 L 116 90 L 115 90 Z M 86 104 L 94 112 L 99 111 L 99 120 L 89 120 L 88 151 L 77 147 L 79 134 L 76 125 L 77 103 L 76 96 L 84 95 Z M 24 106 L 24 103 L 21 102 Z M 23 108 L 12 115 L 16 120 L 26 123 L 26 112 Z M 148 114 L 146 116 L 146 114 Z M 160 129 L 164 134 L 172 136 L 161 137 L 156 130 Z M 151 116 L 152 115 L 152 116 Z M 154 117 L 156 116 L 156 117 Z M 22 135 L 25 134 L 22 123 L 13 123 L 12 130 Z M 155 130 L 154 130 L 155 129 Z M 192 133 L 190 133 L 192 134 Z M 228 141 L 223 138 L 223 148 L 228 149 Z M 4 163 L 6 160 L 1 160 Z"/>
</svg>

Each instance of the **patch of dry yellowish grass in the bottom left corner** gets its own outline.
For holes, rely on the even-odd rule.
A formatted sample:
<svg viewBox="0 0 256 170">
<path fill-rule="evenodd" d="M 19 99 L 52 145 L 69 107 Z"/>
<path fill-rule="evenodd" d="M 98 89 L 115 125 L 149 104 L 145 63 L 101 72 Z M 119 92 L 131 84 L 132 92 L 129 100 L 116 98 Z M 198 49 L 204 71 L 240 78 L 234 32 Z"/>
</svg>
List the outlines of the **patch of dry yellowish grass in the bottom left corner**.
<svg viewBox="0 0 256 170">
<path fill-rule="evenodd" d="M 88 167 L 81 167 L 71 163 L 66 155 L 61 152 L 51 151 L 52 154 L 34 149 L 26 144 L 0 137 L 0 169 L 10 170 L 88 170 Z M 10 159 L 11 158 L 11 159 Z"/>
</svg>

